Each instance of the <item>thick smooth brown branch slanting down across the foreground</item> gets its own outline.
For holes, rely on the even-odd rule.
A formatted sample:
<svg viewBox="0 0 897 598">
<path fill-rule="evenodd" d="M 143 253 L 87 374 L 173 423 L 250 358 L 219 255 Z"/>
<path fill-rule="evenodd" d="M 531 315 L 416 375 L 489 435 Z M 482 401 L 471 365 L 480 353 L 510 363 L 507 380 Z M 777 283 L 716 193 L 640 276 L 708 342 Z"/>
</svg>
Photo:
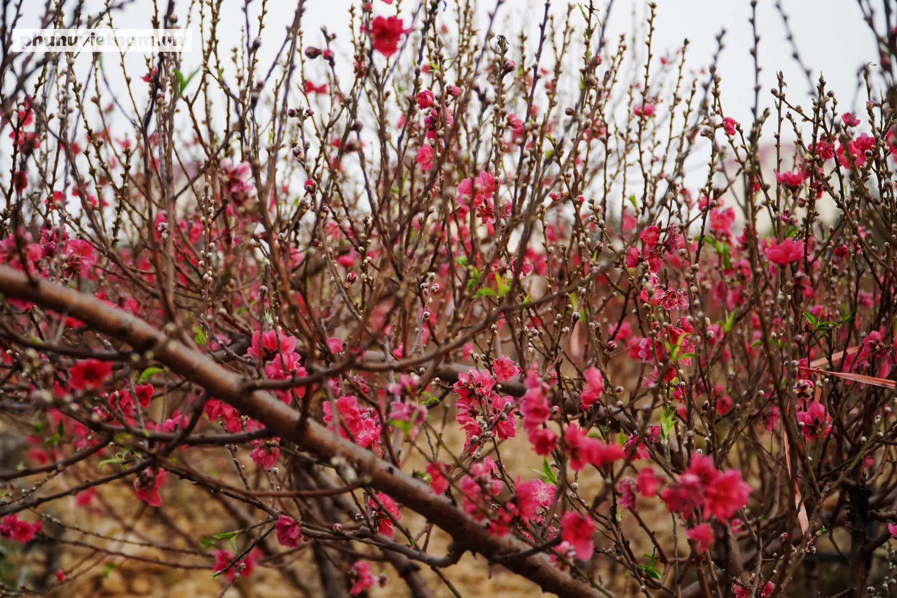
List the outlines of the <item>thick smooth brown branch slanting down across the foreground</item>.
<svg viewBox="0 0 897 598">
<path fill-rule="evenodd" d="M 265 392 L 245 393 L 246 380 L 238 374 L 167 337 L 143 320 L 56 283 L 41 281 L 33 284 L 25 274 L 6 266 L 0 266 L 0 292 L 6 297 L 25 299 L 69 314 L 91 329 L 127 342 L 138 351 L 152 349 L 155 359 L 172 372 L 203 386 L 210 397 L 231 403 L 240 412 L 263 422 L 276 435 L 295 442 L 303 450 L 321 458 L 343 457 L 353 465 L 360 477 L 370 479 L 371 486 L 439 525 L 465 550 L 495 559 L 522 553 L 529 548 L 517 539 L 492 535 L 482 524 L 452 506 L 448 498 L 434 494 L 421 481 L 414 480 L 361 446 L 333 434 L 317 421 L 306 420 L 303 429 L 299 429 L 300 412 Z M 553 567 L 542 554 L 509 558 L 502 564 L 553 594 L 571 598 L 612 595 L 606 590 L 599 592 L 597 586 Z"/>
</svg>

